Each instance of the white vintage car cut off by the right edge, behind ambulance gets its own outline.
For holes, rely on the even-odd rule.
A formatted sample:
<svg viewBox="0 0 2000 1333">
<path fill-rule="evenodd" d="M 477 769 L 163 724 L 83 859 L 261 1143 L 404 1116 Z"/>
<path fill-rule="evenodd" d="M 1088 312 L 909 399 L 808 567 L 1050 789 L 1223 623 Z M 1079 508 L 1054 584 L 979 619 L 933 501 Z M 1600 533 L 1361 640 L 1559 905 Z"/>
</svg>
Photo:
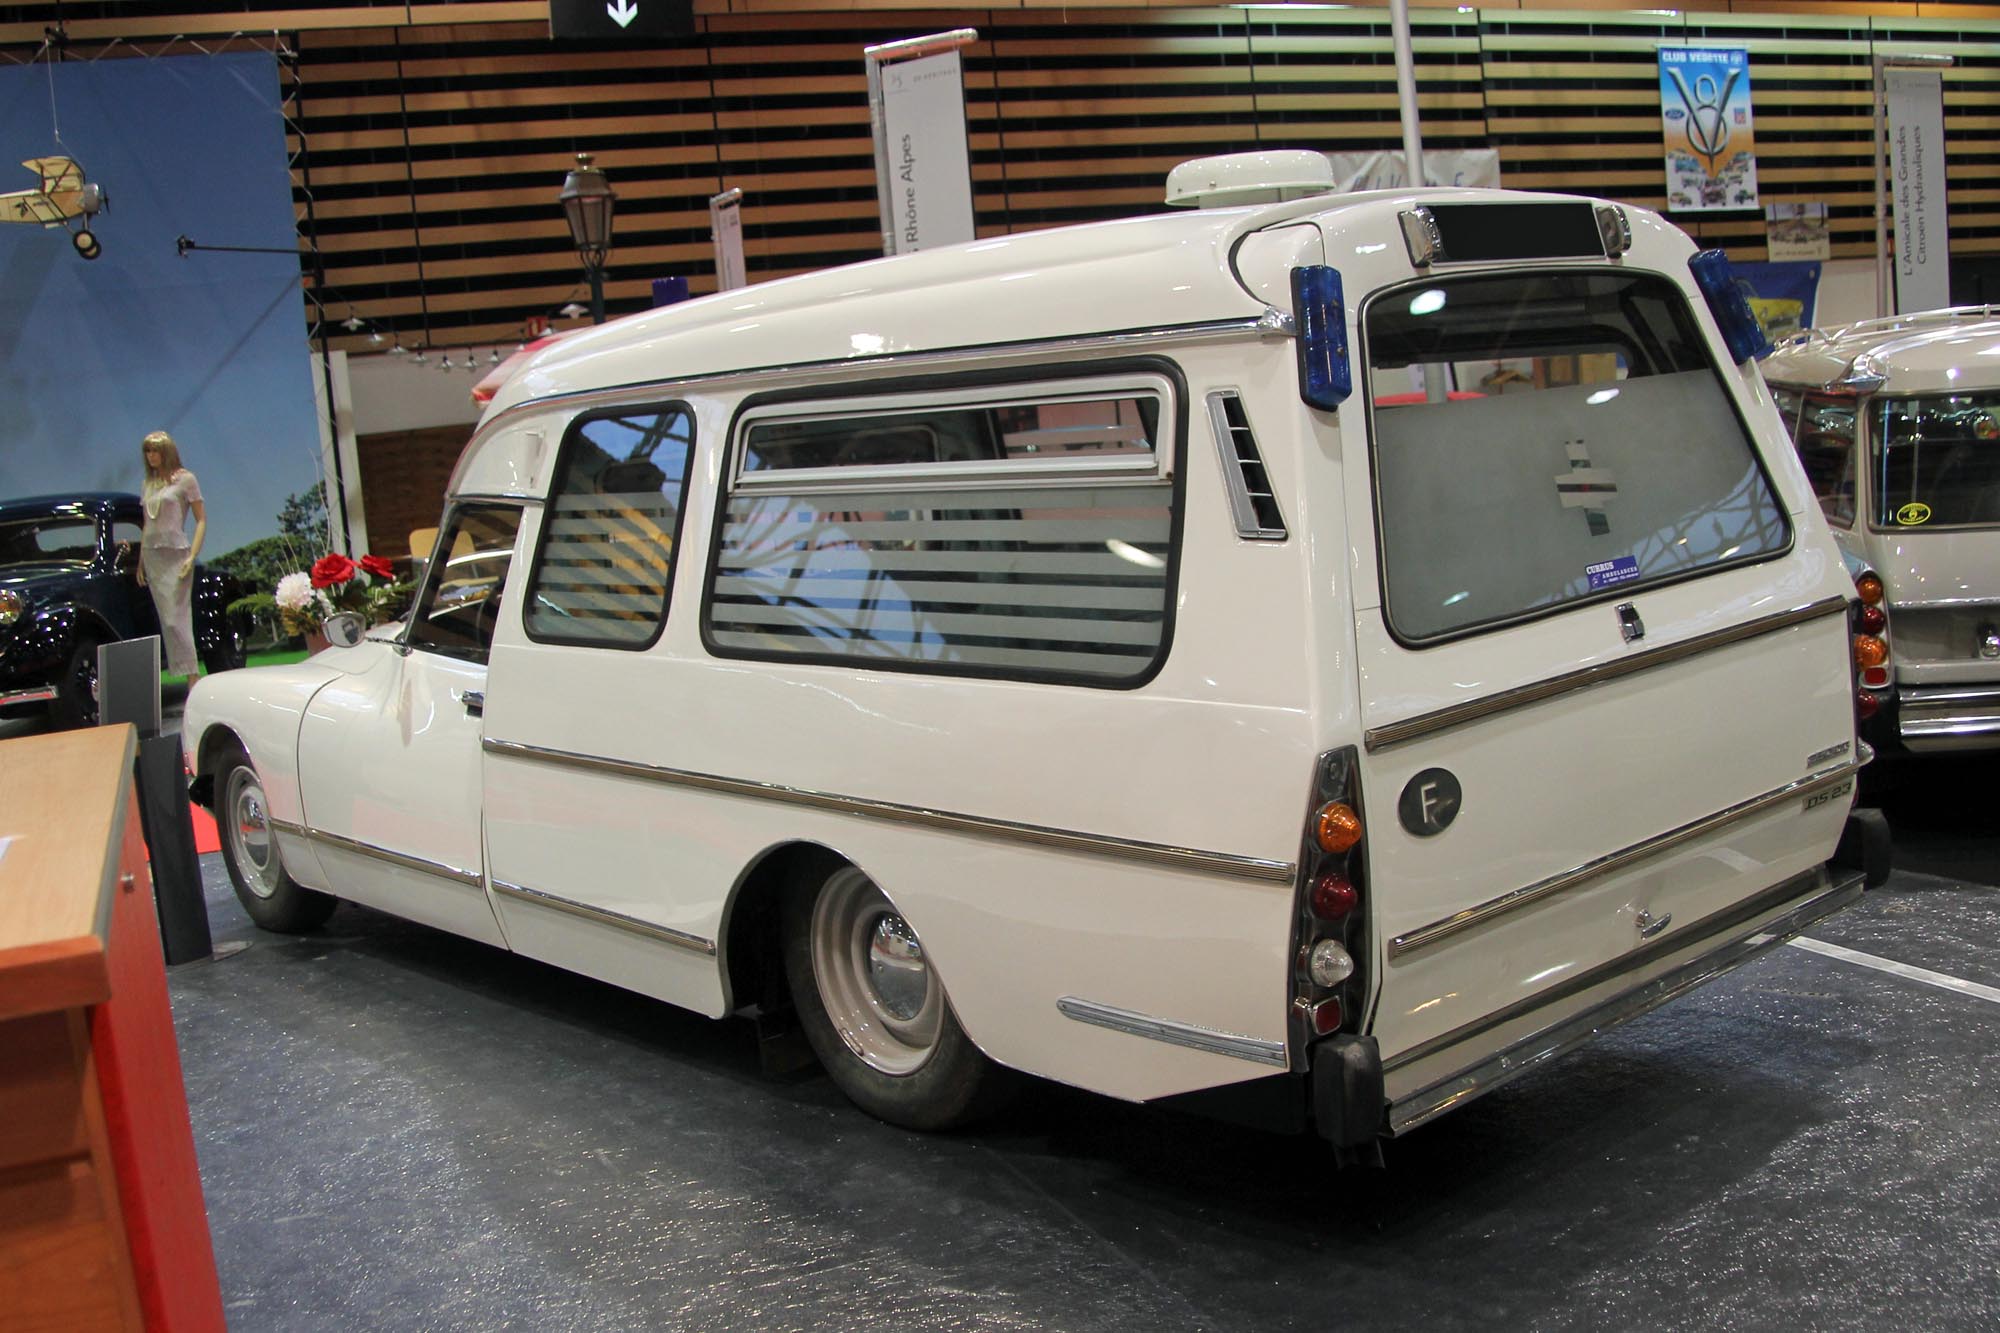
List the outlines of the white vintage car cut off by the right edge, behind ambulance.
<svg viewBox="0 0 2000 1333">
<path fill-rule="evenodd" d="M 2000 751 L 2000 310 L 1812 330 L 1764 378 L 1834 540 L 1876 574 L 1862 735 Z"/>
</svg>

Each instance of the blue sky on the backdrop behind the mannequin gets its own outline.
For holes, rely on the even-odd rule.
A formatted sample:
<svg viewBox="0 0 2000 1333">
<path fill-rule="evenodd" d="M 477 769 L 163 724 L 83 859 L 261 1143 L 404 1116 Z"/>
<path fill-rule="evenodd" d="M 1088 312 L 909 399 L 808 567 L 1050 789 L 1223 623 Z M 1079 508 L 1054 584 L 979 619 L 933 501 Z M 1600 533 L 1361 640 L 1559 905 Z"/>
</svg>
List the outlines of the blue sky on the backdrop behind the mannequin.
<svg viewBox="0 0 2000 1333">
<path fill-rule="evenodd" d="M 140 436 L 170 430 L 206 554 L 276 532 L 320 476 L 276 58 L 0 68 L 0 192 L 62 152 L 110 194 L 96 260 L 64 228 L 0 226 L 0 496 L 138 490 Z M 286 254 L 182 258 L 182 234 Z"/>
</svg>

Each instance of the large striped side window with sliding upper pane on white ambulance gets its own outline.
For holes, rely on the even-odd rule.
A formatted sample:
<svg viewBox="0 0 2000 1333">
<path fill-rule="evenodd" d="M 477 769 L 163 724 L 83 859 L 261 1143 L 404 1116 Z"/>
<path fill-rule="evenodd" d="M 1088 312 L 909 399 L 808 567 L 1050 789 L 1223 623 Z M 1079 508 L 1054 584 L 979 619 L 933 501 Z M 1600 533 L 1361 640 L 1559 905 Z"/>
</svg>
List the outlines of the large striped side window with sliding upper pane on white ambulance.
<svg viewBox="0 0 2000 1333">
<path fill-rule="evenodd" d="M 736 656 L 1130 685 L 1166 652 L 1172 386 L 750 412 L 704 630 Z"/>
</svg>

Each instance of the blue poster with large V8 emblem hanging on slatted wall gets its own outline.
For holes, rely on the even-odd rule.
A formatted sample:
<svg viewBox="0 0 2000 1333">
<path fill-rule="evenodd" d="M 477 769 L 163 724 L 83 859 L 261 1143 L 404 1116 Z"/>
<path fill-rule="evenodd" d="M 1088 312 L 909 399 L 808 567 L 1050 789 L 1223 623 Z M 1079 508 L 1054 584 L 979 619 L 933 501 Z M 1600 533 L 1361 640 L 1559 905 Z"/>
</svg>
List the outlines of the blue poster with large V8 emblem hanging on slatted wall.
<svg viewBox="0 0 2000 1333">
<path fill-rule="evenodd" d="M 1750 52 L 1662 46 L 1660 124 L 1670 212 L 1756 208 Z"/>
</svg>

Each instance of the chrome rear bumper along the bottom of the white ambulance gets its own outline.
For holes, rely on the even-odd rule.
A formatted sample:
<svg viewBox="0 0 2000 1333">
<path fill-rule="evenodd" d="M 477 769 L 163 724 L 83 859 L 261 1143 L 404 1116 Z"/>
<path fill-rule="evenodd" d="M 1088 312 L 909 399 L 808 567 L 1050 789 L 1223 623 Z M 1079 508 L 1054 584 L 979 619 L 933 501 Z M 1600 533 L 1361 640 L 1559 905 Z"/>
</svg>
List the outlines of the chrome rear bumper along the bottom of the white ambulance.
<svg viewBox="0 0 2000 1333">
<path fill-rule="evenodd" d="M 1862 897 L 1862 871 L 1814 867 L 1708 921 L 1606 963 L 1554 993 L 1444 1033 L 1382 1065 L 1388 1133 L 1490 1093 L 1604 1029 L 1782 945 Z"/>
</svg>

